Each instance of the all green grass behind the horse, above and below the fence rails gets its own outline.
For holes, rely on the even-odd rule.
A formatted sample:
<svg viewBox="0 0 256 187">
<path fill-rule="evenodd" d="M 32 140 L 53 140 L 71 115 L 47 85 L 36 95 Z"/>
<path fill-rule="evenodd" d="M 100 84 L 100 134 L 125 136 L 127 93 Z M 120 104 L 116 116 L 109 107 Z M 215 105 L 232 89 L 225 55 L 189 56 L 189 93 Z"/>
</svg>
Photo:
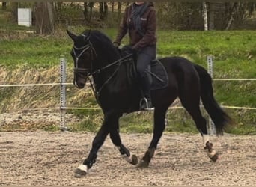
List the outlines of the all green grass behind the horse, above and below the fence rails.
<svg viewBox="0 0 256 187">
<path fill-rule="evenodd" d="M 1 17 L 0 17 L 1 19 Z M 0 66 L 7 69 L 24 67 L 24 69 L 47 69 L 58 66 L 59 58 L 64 55 L 68 66 L 72 68 L 73 61 L 70 49 L 73 45 L 66 28 L 50 37 L 25 35 L 24 37 L 0 37 Z M 85 28 L 70 27 L 76 34 Z M 102 30 L 112 40 L 115 38 L 116 28 Z M 6 36 L 1 31 L 0 35 Z M 214 57 L 214 78 L 255 78 L 256 77 L 256 31 L 157 31 L 157 54 L 164 56 L 183 56 L 196 64 L 207 68 L 207 55 Z M 124 38 L 124 43 L 128 38 Z M 256 107 L 256 82 L 213 82 L 216 100 L 222 105 Z M 5 93 L 4 93 L 5 94 Z M 6 94 L 0 95 L 0 100 Z M 70 93 L 72 94 L 72 93 Z M 82 107 L 98 107 L 94 96 L 90 93 L 85 98 Z M 73 105 L 81 106 L 81 101 L 74 101 Z M 82 102 L 84 103 L 84 102 Z M 82 123 L 73 126 L 72 130 L 97 131 L 103 120 L 101 111 L 71 111 L 83 116 Z M 253 134 L 256 132 L 255 111 L 228 109 L 234 117 L 237 126 L 229 132 L 234 134 Z M 185 114 L 185 117 L 184 117 Z M 168 111 L 167 131 L 197 132 L 195 124 L 186 112 L 181 109 Z M 153 118 L 151 113 L 134 113 L 121 117 L 121 132 L 152 132 Z"/>
</svg>

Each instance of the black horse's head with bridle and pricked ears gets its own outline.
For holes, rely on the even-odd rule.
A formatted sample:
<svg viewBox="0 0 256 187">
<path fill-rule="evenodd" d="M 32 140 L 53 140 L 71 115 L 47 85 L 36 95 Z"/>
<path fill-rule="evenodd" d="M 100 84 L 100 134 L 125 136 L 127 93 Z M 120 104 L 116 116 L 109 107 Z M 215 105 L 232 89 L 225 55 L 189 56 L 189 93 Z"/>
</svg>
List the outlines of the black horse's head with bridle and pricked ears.
<svg viewBox="0 0 256 187">
<path fill-rule="evenodd" d="M 77 88 L 84 88 L 95 56 L 94 47 L 90 42 L 90 31 L 88 34 L 76 35 L 67 30 L 67 34 L 73 40 L 73 48 L 70 52 L 74 61 L 73 84 Z"/>
</svg>

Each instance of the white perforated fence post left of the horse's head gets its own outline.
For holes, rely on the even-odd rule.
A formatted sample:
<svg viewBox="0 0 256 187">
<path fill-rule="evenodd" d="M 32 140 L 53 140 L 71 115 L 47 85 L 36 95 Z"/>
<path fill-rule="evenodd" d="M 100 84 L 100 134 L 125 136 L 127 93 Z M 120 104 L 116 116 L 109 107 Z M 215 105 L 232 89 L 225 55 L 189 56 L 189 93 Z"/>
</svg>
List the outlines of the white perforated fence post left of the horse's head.
<svg viewBox="0 0 256 187">
<path fill-rule="evenodd" d="M 60 123 L 60 129 L 62 131 L 67 130 L 66 124 L 65 124 L 65 114 L 66 114 L 66 85 L 64 84 L 66 82 L 66 62 L 67 60 L 61 56 L 60 58 L 60 110 L 61 110 L 61 123 Z"/>
</svg>

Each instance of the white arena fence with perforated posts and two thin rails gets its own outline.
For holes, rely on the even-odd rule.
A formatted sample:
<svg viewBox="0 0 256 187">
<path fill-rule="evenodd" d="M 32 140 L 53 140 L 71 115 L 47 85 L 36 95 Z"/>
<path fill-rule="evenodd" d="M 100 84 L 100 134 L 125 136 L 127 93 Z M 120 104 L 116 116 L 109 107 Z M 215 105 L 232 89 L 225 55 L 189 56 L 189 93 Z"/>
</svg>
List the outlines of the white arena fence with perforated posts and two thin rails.
<svg viewBox="0 0 256 187">
<path fill-rule="evenodd" d="M 38 111 L 38 110 L 49 110 L 56 109 L 60 111 L 60 129 L 66 130 L 67 126 L 65 124 L 65 113 L 67 110 L 76 109 L 76 110 L 100 110 L 100 108 L 82 108 L 82 107 L 68 107 L 66 105 L 66 86 L 73 85 L 73 83 L 66 82 L 66 64 L 67 60 L 64 57 L 60 58 L 60 82 L 55 83 L 43 83 L 43 84 L 13 84 L 13 85 L 0 85 L 0 88 L 4 87 L 29 87 L 29 86 L 59 86 L 60 87 L 60 105 L 55 108 L 26 108 L 26 111 Z M 207 69 L 211 77 L 213 77 L 213 56 L 207 56 Z M 213 81 L 256 81 L 256 79 L 213 79 Z M 221 105 L 222 108 L 231 108 L 231 109 L 243 109 L 243 110 L 256 110 L 256 108 L 251 107 L 240 107 L 240 106 L 229 106 Z M 169 109 L 180 109 L 182 106 L 171 106 Z M 215 135 L 216 130 L 214 128 L 213 122 L 209 117 L 207 123 L 207 129 L 209 135 Z"/>
</svg>

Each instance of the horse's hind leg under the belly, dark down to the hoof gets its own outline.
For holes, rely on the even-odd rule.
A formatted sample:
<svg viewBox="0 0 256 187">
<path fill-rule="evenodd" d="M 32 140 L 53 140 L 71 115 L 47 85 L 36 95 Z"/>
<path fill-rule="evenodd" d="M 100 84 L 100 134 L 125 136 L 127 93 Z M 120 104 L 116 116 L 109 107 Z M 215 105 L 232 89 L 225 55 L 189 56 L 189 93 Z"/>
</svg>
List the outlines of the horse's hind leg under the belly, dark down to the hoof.
<svg viewBox="0 0 256 187">
<path fill-rule="evenodd" d="M 167 110 L 168 110 L 168 106 L 155 107 L 154 116 L 153 116 L 154 117 L 153 138 L 150 142 L 150 146 L 148 147 L 146 153 L 144 154 L 141 161 L 138 163 L 139 168 L 147 167 L 155 153 L 157 144 L 160 138 L 162 137 L 162 132 L 165 130 L 165 114 Z"/>
</svg>

